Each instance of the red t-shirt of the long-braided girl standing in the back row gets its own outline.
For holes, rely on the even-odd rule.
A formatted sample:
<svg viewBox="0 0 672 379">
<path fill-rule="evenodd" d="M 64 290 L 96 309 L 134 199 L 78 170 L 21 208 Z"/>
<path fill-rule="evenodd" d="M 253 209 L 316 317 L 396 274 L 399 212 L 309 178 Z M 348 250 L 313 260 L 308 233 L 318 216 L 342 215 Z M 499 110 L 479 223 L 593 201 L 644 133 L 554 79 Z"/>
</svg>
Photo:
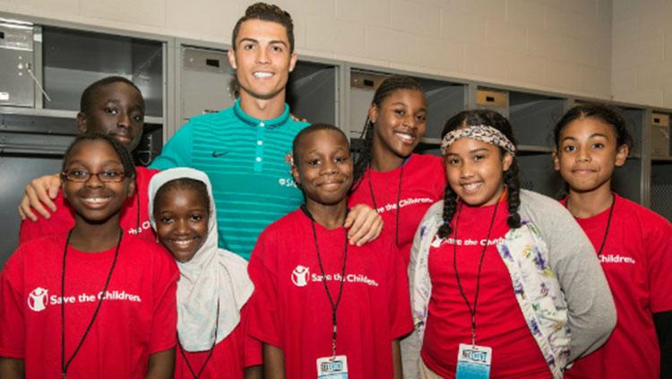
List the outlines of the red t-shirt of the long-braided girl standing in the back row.
<svg viewBox="0 0 672 379">
<path fill-rule="evenodd" d="M 403 176 L 401 169 L 403 168 Z M 399 252 L 404 267 L 409 265 L 410 246 L 416 229 L 427 209 L 444 198 L 445 169 L 444 159 L 434 155 L 411 154 L 402 168 L 378 172 L 366 170 L 357 190 L 349 197 L 349 206 L 363 203 L 377 207 L 383 218 L 383 236 L 395 242 L 397 233 L 397 199 L 399 214 Z M 401 177 L 401 195 L 399 180 Z M 369 183 L 371 186 L 369 187 Z M 371 196 L 372 190 L 375 197 Z"/>
</svg>

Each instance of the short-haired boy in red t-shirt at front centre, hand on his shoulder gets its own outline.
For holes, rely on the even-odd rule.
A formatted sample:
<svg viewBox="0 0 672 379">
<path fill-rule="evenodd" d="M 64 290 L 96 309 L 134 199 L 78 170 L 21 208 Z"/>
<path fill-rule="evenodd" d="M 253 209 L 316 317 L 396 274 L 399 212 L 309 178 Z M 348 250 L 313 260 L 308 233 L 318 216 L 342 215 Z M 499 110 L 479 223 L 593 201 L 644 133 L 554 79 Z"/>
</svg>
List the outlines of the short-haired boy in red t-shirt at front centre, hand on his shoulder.
<svg viewBox="0 0 672 379">
<path fill-rule="evenodd" d="M 294 140 L 293 163 L 306 203 L 263 231 L 248 267 L 264 373 L 399 378 L 398 340 L 412 329 L 408 283 L 392 241 L 348 244 L 348 140 L 335 126 L 311 125 Z"/>
</svg>

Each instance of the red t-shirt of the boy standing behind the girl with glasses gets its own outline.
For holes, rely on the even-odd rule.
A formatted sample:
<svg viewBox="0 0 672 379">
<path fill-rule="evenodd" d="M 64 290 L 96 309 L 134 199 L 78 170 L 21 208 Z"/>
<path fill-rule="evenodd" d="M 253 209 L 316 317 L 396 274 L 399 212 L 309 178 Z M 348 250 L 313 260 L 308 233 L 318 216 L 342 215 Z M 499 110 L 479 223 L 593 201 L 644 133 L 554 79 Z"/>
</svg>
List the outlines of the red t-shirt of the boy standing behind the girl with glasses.
<svg viewBox="0 0 672 379">
<path fill-rule="evenodd" d="M 124 202 L 119 224 L 129 235 L 136 235 L 153 242 L 156 239 L 147 211 L 147 204 L 149 203 L 147 189 L 150 186 L 151 177 L 159 170 L 142 166 L 137 166 L 135 170 L 138 174 L 135 179 L 135 193 Z M 138 196 L 140 196 L 139 199 Z M 56 204 L 56 211 L 51 213 L 50 219 L 47 220 L 36 212 L 37 221 L 28 219 L 22 221 L 19 231 L 20 245 L 40 237 L 65 233 L 74 227 L 73 210 L 63 198 L 63 194 L 59 192 L 54 203 Z M 138 205 L 140 205 L 140 217 L 138 217 Z"/>
</svg>

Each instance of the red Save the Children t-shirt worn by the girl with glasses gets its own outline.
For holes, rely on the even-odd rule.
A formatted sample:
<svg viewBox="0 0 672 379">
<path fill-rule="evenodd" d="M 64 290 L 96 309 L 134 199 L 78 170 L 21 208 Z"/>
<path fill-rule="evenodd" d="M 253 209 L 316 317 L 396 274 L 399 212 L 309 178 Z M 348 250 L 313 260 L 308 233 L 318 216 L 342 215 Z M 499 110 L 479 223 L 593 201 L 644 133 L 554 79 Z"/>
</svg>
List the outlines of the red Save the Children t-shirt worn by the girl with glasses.
<svg viewBox="0 0 672 379">
<path fill-rule="evenodd" d="M 0 357 L 22 358 L 27 378 L 61 376 L 61 273 L 66 234 L 19 246 L 0 273 Z M 98 306 L 116 246 L 101 253 L 68 247 L 65 358 Z M 142 254 L 138 254 L 142 252 Z M 124 236 L 108 297 L 68 376 L 143 378 L 149 356 L 175 346 L 178 278 L 159 245 Z"/>
</svg>

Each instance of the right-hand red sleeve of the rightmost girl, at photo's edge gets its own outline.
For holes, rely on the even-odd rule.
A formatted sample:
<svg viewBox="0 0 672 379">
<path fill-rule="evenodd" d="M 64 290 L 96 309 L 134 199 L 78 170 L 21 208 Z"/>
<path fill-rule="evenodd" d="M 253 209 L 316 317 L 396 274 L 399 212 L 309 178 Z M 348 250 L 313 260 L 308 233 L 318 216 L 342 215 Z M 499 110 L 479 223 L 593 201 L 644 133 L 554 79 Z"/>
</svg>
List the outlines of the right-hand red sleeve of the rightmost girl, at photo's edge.
<svg viewBox="0 0 672 379">
<path fill-rule="evenodd" d="M 672 224 L 655 215 L 644 248 L 650 252 L 650 307 L 654 314 L 672 310 Z"/>
</svg>

